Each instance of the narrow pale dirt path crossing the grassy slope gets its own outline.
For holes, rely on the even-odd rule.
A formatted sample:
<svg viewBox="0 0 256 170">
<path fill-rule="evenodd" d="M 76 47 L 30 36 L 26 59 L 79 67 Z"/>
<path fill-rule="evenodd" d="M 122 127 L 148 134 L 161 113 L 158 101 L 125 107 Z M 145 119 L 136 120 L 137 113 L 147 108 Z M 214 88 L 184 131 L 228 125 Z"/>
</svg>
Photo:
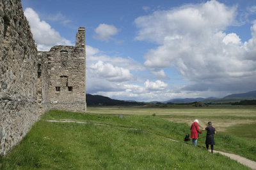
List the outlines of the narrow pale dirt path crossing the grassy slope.
<svg viewBox="0 0 256 170">
<path fill-rule="evenodd" d="M 73 121 L 73 120 L 46 120 L 47 122 L 63 122 L 63 123 L 77 123 L 77 124 L 90 124 L 88 122 L 79 122 L 79 121 Z M 93 125 L 102 125 L 102 126 L 108 126 L 108 127 L 115 127 L 115 126 L 111 126 L 111 125 L 106 125 L 106 124 L 93 124 Z M 131 129 L 131 130 L 140 130 L 140 129 L 136 129 L 136 128 L 129 128 L 129 127 L 118 127 L 121 129 Z M 151 133 L 151 132 L 150 132 Z M 155 134 L 157 135 L 157 134 Z M 160 136 L 160 135 L 157 135 Z M 168 138 L 166 136 L 161 136 L 163 138 L 169 139 L 171 141 L 177 141 L 175 139 L 172 138 Z M 211 152 L 211 150 L 209 150 L 209 152 Z M 218 150 L 213 150 L 214 153 L 220 153 L 221 155 L 225 155 L 227 157 L 229 157 L 230 159 L 236 160 L 237 162 L 239 162 L 240 164 L 243 164 L 244 166 L 248 166 L 252 169 L 256 169 L 256 162 L 250 159 L 246 159 L 244 157 L 241 157 L 239 155 L 233 154 L 233 153 L 225 153 L 225 152 L 221 152 Z"/>
</svg>

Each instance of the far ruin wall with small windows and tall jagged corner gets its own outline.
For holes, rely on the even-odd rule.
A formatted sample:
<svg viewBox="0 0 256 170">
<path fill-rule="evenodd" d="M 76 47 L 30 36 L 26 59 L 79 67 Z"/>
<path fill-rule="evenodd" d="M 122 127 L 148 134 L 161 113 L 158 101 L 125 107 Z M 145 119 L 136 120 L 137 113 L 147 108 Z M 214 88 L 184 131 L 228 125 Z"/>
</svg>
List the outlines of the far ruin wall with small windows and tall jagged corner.
<svg viewBox="0 0 256 170">
<path fill-rule="evenodd" d="M 76 46 L 53 46 L 49 52 L 38 52 L 38 55 L 45 59 L 45 62 L 38 62 L 38 67 L 42 67 L 42 80 L 39 80 L 42 82 L 39 83 L 45 87 L 49 83 L 49 98 L 44 97 L 45 94 L 42 97 L 40 92 L 47 89 L 41 88 L 38 99 L 41 97 L 42 103 L 52 109 L 86 111 L 85 28 L 79 27 Z M 45 78 L 45 69 L 49 71 L 49 78 Z M 40 99 L 38 102 L 41 103 Z"/>
</svg>

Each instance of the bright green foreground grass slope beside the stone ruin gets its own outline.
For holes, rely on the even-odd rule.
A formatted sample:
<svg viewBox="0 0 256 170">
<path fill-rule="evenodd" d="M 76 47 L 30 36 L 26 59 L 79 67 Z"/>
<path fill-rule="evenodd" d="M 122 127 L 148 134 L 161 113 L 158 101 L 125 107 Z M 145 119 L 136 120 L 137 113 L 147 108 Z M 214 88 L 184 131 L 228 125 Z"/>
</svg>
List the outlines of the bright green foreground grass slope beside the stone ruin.
<svg viewBox="0 0 256 170">
<path fill-rule="evenodd" d="M 88 124 L 45 121 L 61 119 Z M 150 115 L 50 111 L 0 159 L 0 169 L 249 169 L 205 148 L 161 137 L 182 140 L 188 132 L 187 124 Z"/>
</svg>

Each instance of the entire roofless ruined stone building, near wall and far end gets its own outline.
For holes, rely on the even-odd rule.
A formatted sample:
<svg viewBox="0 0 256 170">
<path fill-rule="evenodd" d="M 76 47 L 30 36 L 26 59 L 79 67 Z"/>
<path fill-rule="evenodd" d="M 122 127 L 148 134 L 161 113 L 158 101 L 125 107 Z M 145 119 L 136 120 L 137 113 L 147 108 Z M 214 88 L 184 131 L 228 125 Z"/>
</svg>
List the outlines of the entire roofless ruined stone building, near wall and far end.
<svg viewBox="0 0 256 170">
<path fill-rule="evenodd" d="M 0 0 L 0 154 L 50 109 L 86 111 L 85 29 L 76 46 L 37 52 L 20 0 Z"/>
</svg>

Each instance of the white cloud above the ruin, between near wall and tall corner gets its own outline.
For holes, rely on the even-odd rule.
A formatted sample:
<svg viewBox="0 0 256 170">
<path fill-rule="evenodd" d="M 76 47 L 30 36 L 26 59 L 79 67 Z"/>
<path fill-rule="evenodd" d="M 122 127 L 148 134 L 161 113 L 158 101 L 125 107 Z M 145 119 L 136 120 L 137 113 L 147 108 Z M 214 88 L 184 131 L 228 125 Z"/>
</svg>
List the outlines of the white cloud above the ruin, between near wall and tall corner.
<svg viewBox="0 0 256 170">
<path fill-rule="evenodd" d="M 40 20 L 38 14 L 32 8 L 26 8 L 24 15 L 31 26 L 31 32 L 38 50 L 50 50 L 54 45 L 71 45 L 68 39 L 60 36 L 60 33 L 52 29 L 44 20 Z"/>
</svg>

